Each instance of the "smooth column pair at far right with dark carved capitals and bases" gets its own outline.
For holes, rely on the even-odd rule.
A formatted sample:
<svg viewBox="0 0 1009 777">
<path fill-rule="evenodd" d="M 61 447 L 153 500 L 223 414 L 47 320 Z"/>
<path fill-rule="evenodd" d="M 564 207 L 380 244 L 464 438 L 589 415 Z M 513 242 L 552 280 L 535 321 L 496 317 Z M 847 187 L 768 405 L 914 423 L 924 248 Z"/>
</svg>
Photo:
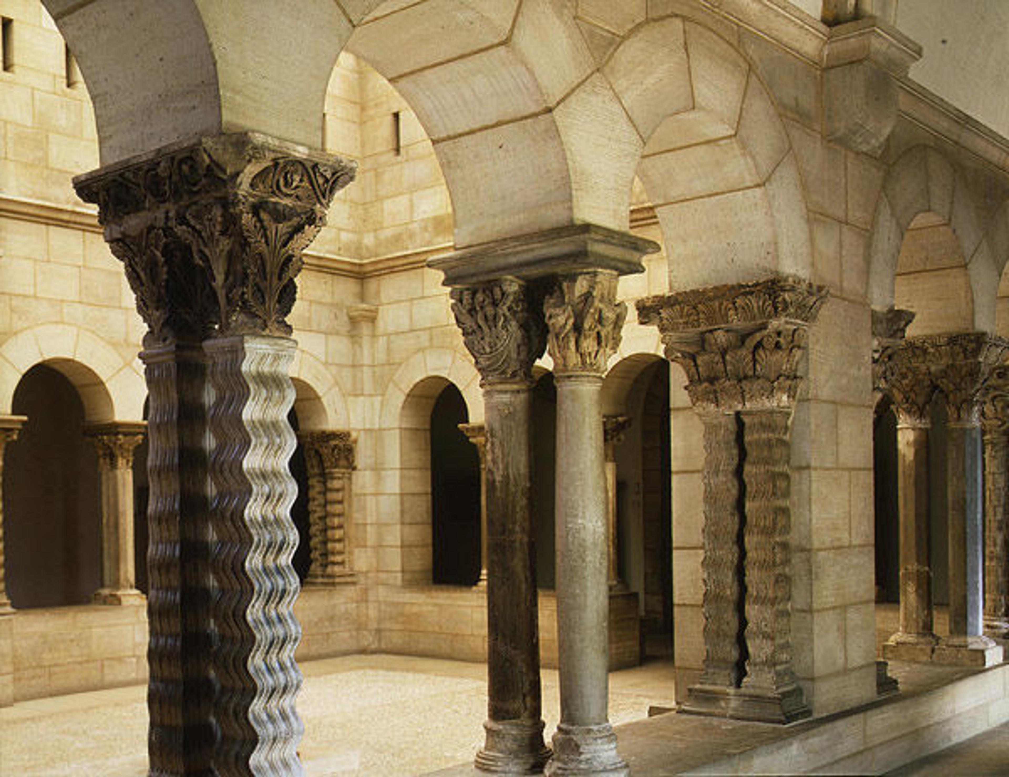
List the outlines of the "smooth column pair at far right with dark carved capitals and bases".
<svg viewBox="0 0 1009 777">
<path fill-rule="evenodd" d="M 1001 650 L 983 634 L 986 606 L 998 619 L 1003 575 L 985 579 L 984 545 L 998 556 L 1004 543 L 1005 460 L 1000 462 L 998 376 L 1009 342 L 981 332 L 908 337 L 891 356 L 887 390 L 897 414 L 900 513 L 900 630 L 884 646 L 888 659 L 989 665 Z M 946 520 L 948 526 L 949 634 L 933 631 L 929 561 L 928 456 L 933 398 L 946 410 Z M 982 460 L 982 411 L 986 416 L 987 468 Z M 1004 453 L 1002 454 L 1004 455 Z M 987 484 L 983 471 L 987 469 Z M 987 491 L 987 496 L 986 496 Z M 991 525 L 984 528 L 985 503 Z M 987 535 L 987 536 L 986 536 Z M 998 561 L 992 559 L 992 571 Z M 997 574 L 997 573 L 996 573 Z M 985 585 L 991 585 L 987 591 Z M 986 604 L 986 598 L 990 603 Z M 1004 599 L 1001 599 L 1004 602 Z"/>
</svg>

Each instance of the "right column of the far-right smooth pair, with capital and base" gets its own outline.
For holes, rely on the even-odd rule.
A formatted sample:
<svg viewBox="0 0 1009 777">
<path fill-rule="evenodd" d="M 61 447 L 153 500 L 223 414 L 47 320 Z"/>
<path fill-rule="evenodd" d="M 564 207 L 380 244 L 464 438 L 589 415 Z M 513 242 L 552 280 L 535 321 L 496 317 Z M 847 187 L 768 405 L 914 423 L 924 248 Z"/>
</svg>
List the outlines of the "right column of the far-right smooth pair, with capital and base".
<svg viewBox="0 0 1009 777">
<path fill-rule="evenodd" d="M 945 399 L 946 520 L 949 542 L 949 636 L 935 660 L 988 666 L 1002 649 L 984 629 L 984 489 L 982 392 L 1009 352 L 1009 341 L 982 332 L 929 337 L 932 376 Z"/>
</svg>

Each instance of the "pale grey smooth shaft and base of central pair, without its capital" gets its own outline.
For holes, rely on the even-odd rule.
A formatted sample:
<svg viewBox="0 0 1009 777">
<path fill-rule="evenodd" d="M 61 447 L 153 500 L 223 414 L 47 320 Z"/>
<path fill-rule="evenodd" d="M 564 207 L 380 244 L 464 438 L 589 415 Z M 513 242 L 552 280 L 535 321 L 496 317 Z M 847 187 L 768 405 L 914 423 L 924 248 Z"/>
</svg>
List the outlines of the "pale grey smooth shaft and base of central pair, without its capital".
<svg viewBox="0 0 1009 777">
<path fill-rule="evenodd" d="M 547 775 L 626 775 L 607 719 L 606 487 L 597 374 L 557 375 L 557 649 L 561 720 Z"/>
</svg>

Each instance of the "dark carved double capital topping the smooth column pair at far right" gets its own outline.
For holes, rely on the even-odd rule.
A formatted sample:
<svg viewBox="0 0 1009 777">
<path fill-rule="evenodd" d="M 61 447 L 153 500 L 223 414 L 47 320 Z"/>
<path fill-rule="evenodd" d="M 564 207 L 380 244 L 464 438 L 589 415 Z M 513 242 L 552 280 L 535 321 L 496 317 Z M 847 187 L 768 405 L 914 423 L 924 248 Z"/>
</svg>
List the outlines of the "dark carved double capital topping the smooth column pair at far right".
<svg viewBox="0 0 1009 777">
<path fill-rule="evenodd" d="M 980 423 L 983 388 L 1007 352 L 1009 341 L 984 332 L 908 337 L 890 383 L 900 420 L 925 423 L 939 392 L 950 423 Z"/>
</svg>

